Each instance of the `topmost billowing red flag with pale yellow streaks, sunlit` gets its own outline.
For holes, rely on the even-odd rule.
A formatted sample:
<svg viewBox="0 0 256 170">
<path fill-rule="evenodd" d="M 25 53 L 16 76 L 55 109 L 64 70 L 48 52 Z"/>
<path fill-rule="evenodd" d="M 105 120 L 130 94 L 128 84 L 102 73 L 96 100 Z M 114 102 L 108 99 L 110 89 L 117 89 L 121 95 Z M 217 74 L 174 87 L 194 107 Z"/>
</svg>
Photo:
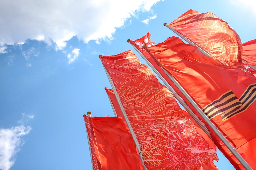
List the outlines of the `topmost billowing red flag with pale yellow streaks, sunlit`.
<svg viewBox="0 0 256 170">
<path fill-rule="evenodd" d="M 243 46 L 239 35 L 213 13 L 188 10 L 168 25 L 223 65 L 243 68 Z"/>
</svg>

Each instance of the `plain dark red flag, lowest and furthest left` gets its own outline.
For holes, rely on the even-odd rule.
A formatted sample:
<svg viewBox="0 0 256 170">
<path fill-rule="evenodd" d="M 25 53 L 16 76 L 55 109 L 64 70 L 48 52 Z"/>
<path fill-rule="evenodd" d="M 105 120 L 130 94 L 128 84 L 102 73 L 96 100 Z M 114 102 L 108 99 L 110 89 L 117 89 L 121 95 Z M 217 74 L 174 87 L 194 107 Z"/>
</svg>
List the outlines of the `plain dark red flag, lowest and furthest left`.
<svg viewBox="0 0 256 170">
<path fill-rule="evenodd" d="M 131 134 L 118 117 L 88 117 L 84 122 L 92 151 L 93 170 L 140 170 Z"/>
</svg>

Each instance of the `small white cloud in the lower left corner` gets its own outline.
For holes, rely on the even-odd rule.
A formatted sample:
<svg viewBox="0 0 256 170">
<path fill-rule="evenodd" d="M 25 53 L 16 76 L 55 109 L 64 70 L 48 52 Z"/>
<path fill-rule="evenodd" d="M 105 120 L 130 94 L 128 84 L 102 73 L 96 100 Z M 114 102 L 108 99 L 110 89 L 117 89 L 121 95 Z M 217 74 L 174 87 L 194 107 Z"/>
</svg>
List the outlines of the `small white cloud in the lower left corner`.
<svg viewBox="0 0 256 170">
<path fill-rule="evenodd" d="M 15 154 L 24 144 L 22 137 L 29 133 L 31 127 L 23 125 L 11 129 L 0 129 L 0 165 L 1 169 L 9 170 L 15 161 Z"/>
</svg>

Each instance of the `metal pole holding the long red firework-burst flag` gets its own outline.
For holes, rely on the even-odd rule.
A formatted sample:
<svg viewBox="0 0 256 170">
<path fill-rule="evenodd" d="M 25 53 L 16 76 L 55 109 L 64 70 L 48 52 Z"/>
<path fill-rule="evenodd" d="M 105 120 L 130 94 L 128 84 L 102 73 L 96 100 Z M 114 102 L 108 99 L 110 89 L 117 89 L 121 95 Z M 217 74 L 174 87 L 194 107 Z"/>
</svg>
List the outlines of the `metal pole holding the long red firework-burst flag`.
<svg viewBox="0 0 256 170">
<path fill-rule="evenodd" d="M 100 57 L 100 56 L 102 56 L 102 55 L 99 55 L 99 57 Z M 114 93 L 115 93 L 116 100 L 117 100 L 118 105 L 119 105 L 119 107 L 120 107 L 120 109 L 121 109 L 121 111 L 122 111 L 122 113 L 123 113 L 123 115 L 124 115 L 125 122 L 127 123 L 127 126 L 128 126 L 128 128 L 129 128 L 129 130 L 130 130 L 130 132 L 131 132 L 131 135 L 132 135 L 132 138 L 133 138 L 133 140 L 134 140 L 134 143 L 135 143 L 135 145 L 136 145 L 136 147 L 137 147 L 137 149 L 138 149 L 138 151 L 139 151 L 139 156 L 140 156 L 140 160 L 141 160 L 141 162 L 142 162 L 142 165 L 143 165 L 143 167 L 144 167 L 145 170 L 148 170 L 148 169 L 146 168 L 146 166 L 144 165 L 144 162 L 143 162 L 143 159 L 142 159 L 141 150 L 140 150 L 140 144 L 139 144 L 139 142 L 138 142 L 138 140 L 137 140 L 137 138 L 136 138 L 136 135 L 135 135 L 135 133 L 134 133 L 134 131 L 133 131 L 133 129 L 132 129 L 131 123 L 130 123 L 130 121 L 129 121 L 129 119 L 128 119 L 126 113 L 125 113 L 123 104 L 122 104 L 122 102 L 121 102 L 121 100 L 120 100 L 120 98 L 119 98 L 119 96 L 118 96 L 118 94 L 117 94 L 117 92 L 116 92 L 116 87 L 115 87 L 115 85 L 114 85 L 112 79 L 110 78 L 110 76 L 109 76 L 109 74 L 108 74 L 108 71 L 106 70 L 106 68 L 104 67 L 104 65 L 103 65 L 103 68 L 104 68 L 104 70 L 105 70 L 105 72 L 106 72 L 106 74 L 107 74 L 109 83 L 110 83 L 110 85 L 111 85 L 111 87 L 112 87 L 112 89 L 113 89 L 113 91 L 114 91 Z"/>
</svg>

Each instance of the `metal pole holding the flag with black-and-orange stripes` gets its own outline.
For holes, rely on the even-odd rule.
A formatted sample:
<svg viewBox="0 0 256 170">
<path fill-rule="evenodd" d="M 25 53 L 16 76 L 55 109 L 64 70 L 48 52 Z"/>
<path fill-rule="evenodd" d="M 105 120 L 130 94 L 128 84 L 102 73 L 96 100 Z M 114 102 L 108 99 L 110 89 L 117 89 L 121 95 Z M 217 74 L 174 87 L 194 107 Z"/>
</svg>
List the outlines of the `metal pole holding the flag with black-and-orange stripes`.
<svg viewBox="0 0 256 170">
<path fill-rule="evenodd" d="M 145 48 L 147 50 L 147 48 Z M 152 56 L 152 54 L 147 50 L 148 54 Z M 162 67 L 161 67 L 162 68 Z M 220 140 L 228 147 L 231 153 L 236 157 L 236 159 L 244 166 L 246 170 L 253 170 L 252 167 L 244 160 L 244 158 L 236 151 L 235 148 L 228 142 L 226 137 L 224 137 L 220 131 L 214 126 L 214 124 L 210 121 L 210 119 L 204 114 L 199 106 L 195 103 L 195 101 L 188 95 L 188 93 L 183 89 L 183 87 L 176 81 L 171 74 L 169 74 L 166 70 L 162 68 L 162 70 L 166 73 L 166 75 L 171 79 L 171 81 L 178 87 L 180 92 L 186 97 L 186 99 L 191 103 L 191 105 L 196 109 L 199 115 L 202 116 L 204 121 L 210 126 L 210 128 L 215 132 L 215 134 L 220 138 Z"/>
</svg>

